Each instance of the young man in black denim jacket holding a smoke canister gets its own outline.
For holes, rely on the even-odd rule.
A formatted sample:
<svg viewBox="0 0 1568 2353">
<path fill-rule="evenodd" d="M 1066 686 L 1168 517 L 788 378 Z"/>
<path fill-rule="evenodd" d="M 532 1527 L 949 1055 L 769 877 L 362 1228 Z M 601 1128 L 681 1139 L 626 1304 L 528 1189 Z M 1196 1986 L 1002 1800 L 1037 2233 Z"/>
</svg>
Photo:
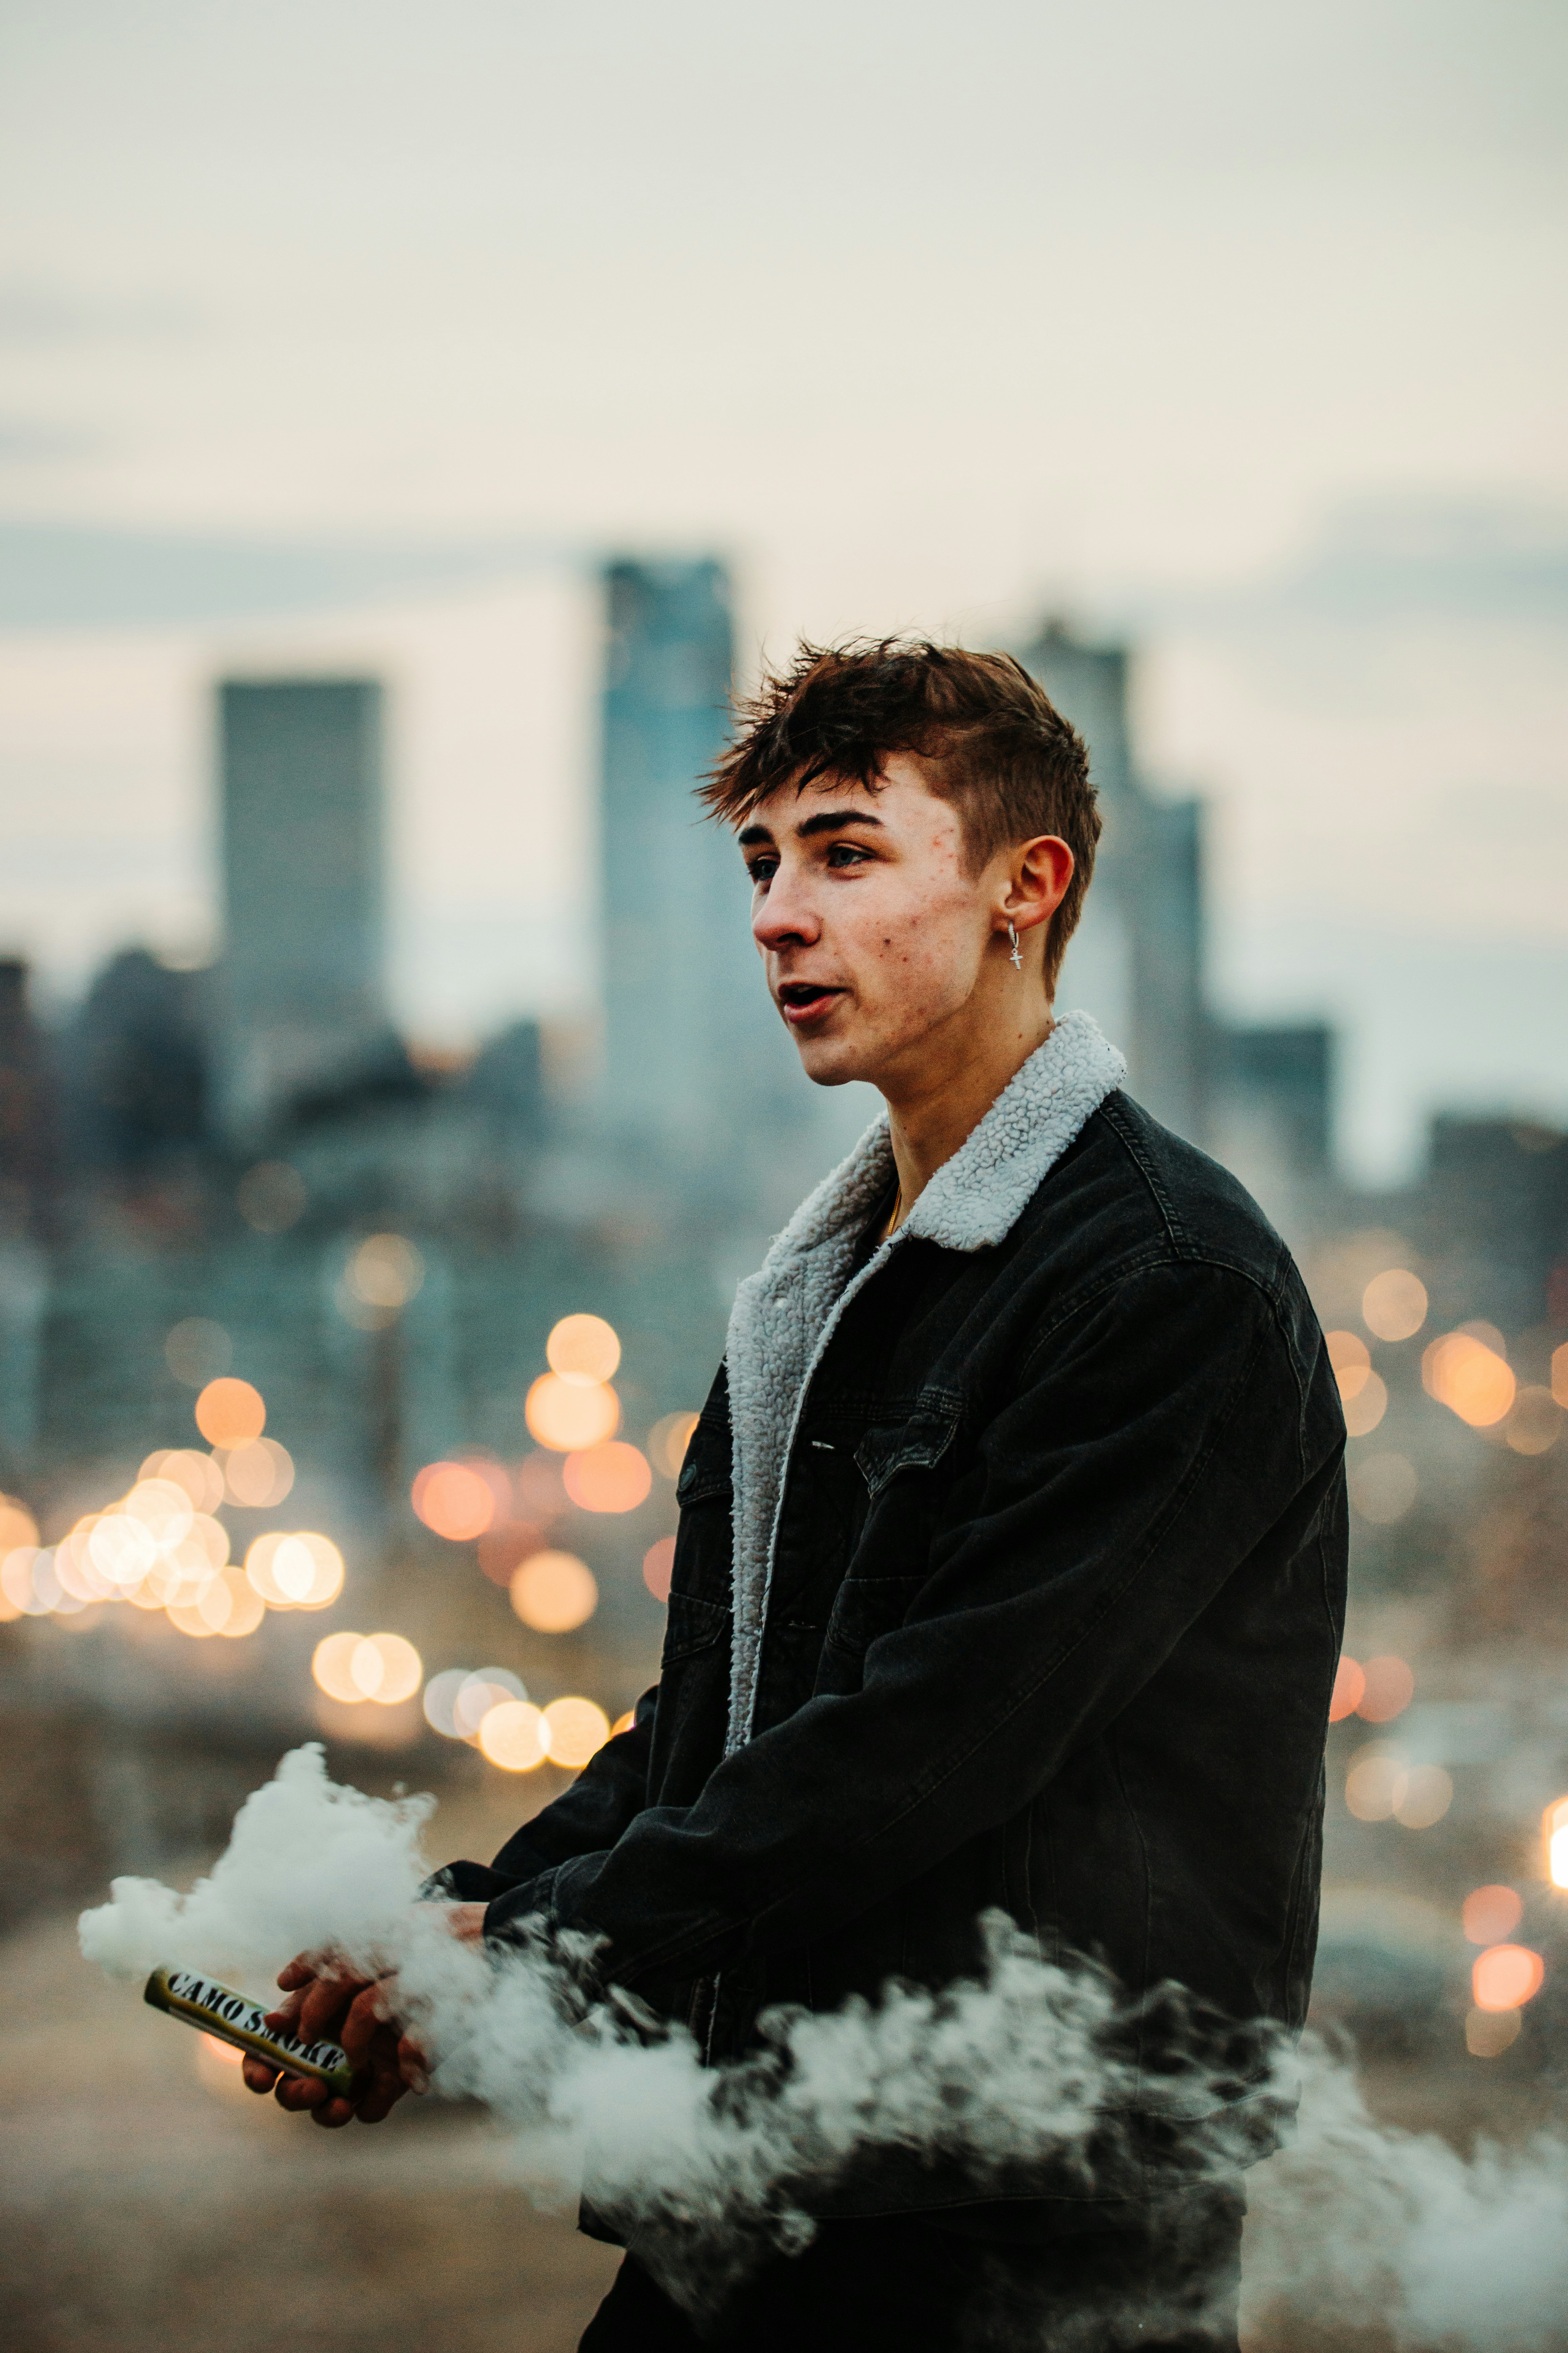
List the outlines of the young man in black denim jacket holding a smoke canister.
<svg viewBox="0 0 1568 2353">
<path fill-rule="evenodd" d="M 870 1080 L 886 1120 L 741 1285 L 658 1689 L 491 1866 L 449 1866 L 454 1927 L 599 1937 L 715 2061 L 778 2002 L 973 1974 L 997 1908 L 1128 1995 L 1298 2026 L 1345 1428 L 1281 1240 L 1053 1012 L 1084 746 L 1006 656 L 804 649 L 705 798 L 809 1078 Z M 294 1984 L 327 2031 L 346 1993 Z M 1157 2068 L 1154 2005 L 1131 2033 Z M 632 2252 L 583 2344 L 1234 2346 L 1239 2191 L 1182 2191 L 1154 2122 L 1131 2146 L 1006 2195 L 884 2153 L 701 2337 Z"/>
</svg>

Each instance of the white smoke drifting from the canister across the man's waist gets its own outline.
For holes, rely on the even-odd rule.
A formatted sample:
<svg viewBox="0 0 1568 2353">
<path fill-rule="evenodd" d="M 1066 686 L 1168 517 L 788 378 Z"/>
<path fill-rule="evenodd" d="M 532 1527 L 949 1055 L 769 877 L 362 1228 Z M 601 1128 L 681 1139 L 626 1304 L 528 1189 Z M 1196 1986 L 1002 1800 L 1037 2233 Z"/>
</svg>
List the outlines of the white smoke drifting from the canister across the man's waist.
<svg viewBox="0 0 1568 2353">
<path fill-rule="evenodd" d="M 414 1904 L 433 1800 L 383 1802 L 287 1755 L 235 1821 L 212 1875 L 179 1897 L 115 1880 L 82 1951 L 118 1977 L 181 1965 L 268 1993 L 301 1951 L 397 1969 L 433 2089 L 477 2094 L 515 2137 L 541 2202 L 585 2184 L 696 2301 L 757 2245 L 811 2235 L 802 2188 L 867 2151 L 961 2155 L 985 2195 L 1018 2167 L 1088 2181 L 1114 2167 L 1131 2097 L 1114 1988 L 1058 1969 L 994 1925 L 987 1972 L 943 1995 L 778 2021 L 771 2052 L 710 2071 L 684 2031 L 635 2002 L 590 2002 L 571 1951 L 491 1967 Z M 585 1960 L 578 1953 L 576 1960 Z M 1199 2165 L 1234 2155 L 1194 2040 L 1164 2080 Z M 1284 2087 L 1284 2082 L 1281 2082 Z M 1147 2085 L 1145 2085 L 1147 2099 Z M 1455 2155 L 1368 2113 L 1352 2071 L 1309 2047 L 1300 2125 L 1248 2174 L 1246 2306 L 1279 2320 L 1380 2325 L 1401 2348 L 1547 2353 L 1568 2332 L 1568 2146 Z"/>
</svg>

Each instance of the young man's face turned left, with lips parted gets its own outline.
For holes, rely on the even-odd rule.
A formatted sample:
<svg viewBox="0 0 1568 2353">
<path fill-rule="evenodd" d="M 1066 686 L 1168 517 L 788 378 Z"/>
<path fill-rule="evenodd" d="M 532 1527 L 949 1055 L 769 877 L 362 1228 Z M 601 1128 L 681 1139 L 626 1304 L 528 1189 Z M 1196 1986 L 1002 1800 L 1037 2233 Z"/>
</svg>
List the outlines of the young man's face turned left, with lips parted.
<svg viewBox="0 0 1568 2353">
<path fill-rule="evenodd" d="M 997 878 L 966 871 L 959 814 L 912 758 L 882 774 L 875 793 L 780 786 L 736 835 L 769 991 L 818 1087 L 898 1087 L 938 1040 L 961 1052 L 997 984 Z"/>
</svg>

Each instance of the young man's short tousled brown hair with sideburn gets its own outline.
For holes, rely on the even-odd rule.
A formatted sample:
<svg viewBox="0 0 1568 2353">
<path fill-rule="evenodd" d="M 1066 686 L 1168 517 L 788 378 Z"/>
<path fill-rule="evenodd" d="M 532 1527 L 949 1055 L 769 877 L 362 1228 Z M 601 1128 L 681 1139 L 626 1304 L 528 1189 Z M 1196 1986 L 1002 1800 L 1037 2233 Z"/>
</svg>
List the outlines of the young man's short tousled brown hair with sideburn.
<svg viewBox="0 0 1568 2353">
<path fill-rule="evenodd" d="M 1046 936 L 1046 991 L 1084 911 L 1100 840 L 1088 748 L 1011 654 L 971 654 L 929 638 L 804 645 L 788 671 L 766 673 L 736 704 L 736 739 L 715 760 L 701 798 L 738 826 L 759 800 L 825 776 L 877 791 L 889 753 L 922 762 L 926 784 L 964 824 L 969 868 L 997 849 L 1058 833 L 1072 882 Z"/>
</svg>

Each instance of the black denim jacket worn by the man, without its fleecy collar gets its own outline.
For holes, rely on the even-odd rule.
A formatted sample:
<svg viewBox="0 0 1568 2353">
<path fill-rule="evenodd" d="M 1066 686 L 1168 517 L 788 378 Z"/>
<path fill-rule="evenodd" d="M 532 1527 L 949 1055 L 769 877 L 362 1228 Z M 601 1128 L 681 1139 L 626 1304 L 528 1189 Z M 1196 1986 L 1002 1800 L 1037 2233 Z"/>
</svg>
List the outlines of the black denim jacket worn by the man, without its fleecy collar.
<svg viewBox="0 0 1568 2353">
<path fill-rule="evenodd" d="M 1131 1993 L 1298 2026 L 1342 1445 L 1284 1242 L 1112 1092 L 997 1247 L 910 1240 L 844 1308 L 788 1457 L 745 1746 L 724 1755 L 719 1372 L 658 1687 L 447 1885 L 489 1899 L 489 1939 L 541 1915 L 602 1937 L 607 1979 L 715 2059 L 769 2005 L 971 1972 L 994 1906 Z"/>
</svg>

